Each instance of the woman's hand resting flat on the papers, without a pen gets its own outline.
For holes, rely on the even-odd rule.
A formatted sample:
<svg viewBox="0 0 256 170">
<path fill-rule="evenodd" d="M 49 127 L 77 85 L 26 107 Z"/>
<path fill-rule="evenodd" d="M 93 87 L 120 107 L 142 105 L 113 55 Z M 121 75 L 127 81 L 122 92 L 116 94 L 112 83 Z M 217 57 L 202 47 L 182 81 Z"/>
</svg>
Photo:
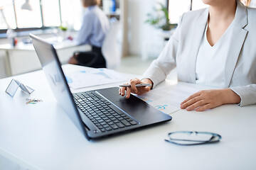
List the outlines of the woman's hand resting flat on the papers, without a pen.
<svg viewBox="0 0 256 170">
<path fill-rule="evenodd" d="M 223 104 L 240 103 L 241 98 L 231 89 L 203 90 L 189 96 L 181 103 L 181 109 L 187 111 L 206 111 Z"/>
</svg>

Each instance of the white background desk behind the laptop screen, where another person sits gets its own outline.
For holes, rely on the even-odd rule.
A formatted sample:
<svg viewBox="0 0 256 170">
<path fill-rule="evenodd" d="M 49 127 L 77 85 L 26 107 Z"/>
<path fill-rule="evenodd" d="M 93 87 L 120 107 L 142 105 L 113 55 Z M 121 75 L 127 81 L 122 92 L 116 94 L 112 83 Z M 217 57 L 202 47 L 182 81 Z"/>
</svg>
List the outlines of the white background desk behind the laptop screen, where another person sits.
<svg viewBox="0 0 256 170">
<path fill-rule="evenodd" d="M 60 62 L 66 64 L 75 50 L 87 51 L 91 49 L 91 46 L 76 45 L 75 42 L 65 40 L 63 42 L 56 42 L 55 48 L 58 55 L 61 56 Z M 4 44 L 0 45 L 0 50 L 4 50 L 6 53 L 4 60 L 7 76 L 41 69 L 41 64 L 31 43 L 23 44 L 23 42 L 19 42 L 16 47 L 12 47 L 10 44 Z"/>
</svg>

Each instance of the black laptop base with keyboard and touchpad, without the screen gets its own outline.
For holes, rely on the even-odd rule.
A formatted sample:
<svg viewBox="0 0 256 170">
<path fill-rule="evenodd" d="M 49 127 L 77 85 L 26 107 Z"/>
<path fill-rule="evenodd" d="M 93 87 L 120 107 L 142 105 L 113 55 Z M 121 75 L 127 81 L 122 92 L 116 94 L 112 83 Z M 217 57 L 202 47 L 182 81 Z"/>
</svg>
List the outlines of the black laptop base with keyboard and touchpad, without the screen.
<svg viewBox="0 0 256 170">
<path fill-rule="evenodd" d="M 149 122 L 154 125 L 171 120 L 171 116 L 161 111 L 152 111 L 152 106 L 136 96 L 131 95 L 129 99 L 120 96 L 118 89 L 113 87 L 73 94 L 88 137 L 101 138 L 146 127 Z"/>
</svg>

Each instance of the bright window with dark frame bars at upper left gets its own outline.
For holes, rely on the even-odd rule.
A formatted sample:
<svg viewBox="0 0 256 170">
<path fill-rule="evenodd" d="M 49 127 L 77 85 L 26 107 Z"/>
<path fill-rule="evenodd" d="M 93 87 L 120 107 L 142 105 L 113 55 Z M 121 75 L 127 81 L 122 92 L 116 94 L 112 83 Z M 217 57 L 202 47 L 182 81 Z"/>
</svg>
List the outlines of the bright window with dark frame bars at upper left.
<svg viewBox="0 0 256 170">
<path fill-rule="evenodd" d="M 26 3 L 31 10 L 22 9 Z M 8 27 L 20 31 L 58 27 L 61 24 L 78 30 L 81 26 L 80 0 L 1 0 L 0 9 L 0 33 L 6 33 Z"/>
</svg>

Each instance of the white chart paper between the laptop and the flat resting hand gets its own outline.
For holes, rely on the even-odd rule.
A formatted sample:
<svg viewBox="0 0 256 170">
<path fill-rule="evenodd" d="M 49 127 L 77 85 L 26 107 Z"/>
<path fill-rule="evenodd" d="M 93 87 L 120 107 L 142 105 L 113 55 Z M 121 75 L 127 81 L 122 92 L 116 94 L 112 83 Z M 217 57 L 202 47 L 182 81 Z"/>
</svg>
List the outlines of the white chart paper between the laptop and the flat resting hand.
<svg viewBox="0 0 256 170">
<path fill-rule="evenodd" d="M 156 87 L 156 89 L 149 91 L 148 94 L 137 97 L 160 111 L 171 114 L 181 109 L 181 102 L 197 91 L 199 90 L 193 84 L 189 86 L 189 84 L 178 83 L 159 88 Z"/>
</svg>

